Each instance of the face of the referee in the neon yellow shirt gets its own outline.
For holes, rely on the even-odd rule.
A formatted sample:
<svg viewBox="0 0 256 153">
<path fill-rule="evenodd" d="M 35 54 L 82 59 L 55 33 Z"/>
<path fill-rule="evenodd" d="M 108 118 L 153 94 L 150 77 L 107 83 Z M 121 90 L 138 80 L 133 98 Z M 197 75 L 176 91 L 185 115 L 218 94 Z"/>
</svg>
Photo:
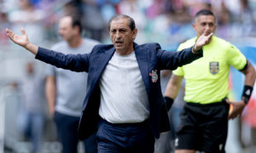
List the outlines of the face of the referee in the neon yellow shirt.
<svg viewBox="0 0 256 153">
<path fill-rule="evenodd" d="M 200 15 L 195 19 L 193 27 L 196 31 L 197 37 L 201 36 L 204 31 L 207 31 L 207 35 L 213 33 L 216 29 L 214 16 L 212 15 Z"/>
</svg>

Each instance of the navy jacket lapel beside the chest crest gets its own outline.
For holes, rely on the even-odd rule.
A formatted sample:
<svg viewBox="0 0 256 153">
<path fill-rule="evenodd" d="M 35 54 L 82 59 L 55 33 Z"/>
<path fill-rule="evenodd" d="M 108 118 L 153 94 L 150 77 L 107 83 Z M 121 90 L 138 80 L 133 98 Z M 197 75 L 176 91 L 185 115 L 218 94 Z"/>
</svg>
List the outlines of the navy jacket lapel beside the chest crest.
<svg viewBox="0 0 256 153">
<path fill-rule="evenodd" d="M 149 95 L 148 52 L 144 51 L 141 46 L 137 45 L 137 43 L 134 43 L 134 49 L 137 58 L 137 63 L 143 77 L 143 82 Z"/>
</svg>

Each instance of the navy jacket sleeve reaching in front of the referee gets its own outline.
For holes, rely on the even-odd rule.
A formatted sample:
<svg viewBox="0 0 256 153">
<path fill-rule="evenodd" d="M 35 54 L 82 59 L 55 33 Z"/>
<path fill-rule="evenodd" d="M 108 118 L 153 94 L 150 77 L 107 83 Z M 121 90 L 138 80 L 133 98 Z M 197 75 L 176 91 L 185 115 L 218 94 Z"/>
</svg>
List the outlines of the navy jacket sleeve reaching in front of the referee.
<svg viewBox="0 0 256 153">
<path fill-rule="evenodd" d="M 166 51 L 160 48 L 160 45 L 156 45 L 156 55 L 159 59 L 160 69 L 165 70 L 176 70 L 177 67 L 187 65 L 194 61 L 195 59 L 199 59 L 203 56 L 202 49 L 199 54 L 193 54 L 191 52 L 191 48 L 184 48 L 182 51 L 173 52 Z"/>
</svg>

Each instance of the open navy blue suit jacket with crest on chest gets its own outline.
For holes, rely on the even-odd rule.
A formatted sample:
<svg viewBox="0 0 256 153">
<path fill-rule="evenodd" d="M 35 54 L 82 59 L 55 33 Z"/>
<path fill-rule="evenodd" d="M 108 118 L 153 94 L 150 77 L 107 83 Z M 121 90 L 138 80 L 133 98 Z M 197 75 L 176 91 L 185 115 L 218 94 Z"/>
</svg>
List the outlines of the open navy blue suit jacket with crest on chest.
<svg viewBox="0 0 256 153">
<path fill-rule="evenodd" d="M 134 50 L 148 94 L 150 128 L 154 137 L 159 138 L 161 132 L 170 130 L 166 104 L 160 88 L 160 70 L 175 70 L 177 66 L 189 64 L 193 60 L 199 59 L 202 56 L 202 51 L 200 54 L 192 54 L 191 48 L 187 48 L 181 52 L 169 52 L 162 50 L 158 43 L 143 45 L 134 43 Z M 36 59 L 71 71 L 88 72 L 87 93 L 79 122 L 79 139 L 86 139 L 97 130 L 101 102 L 99 80 L 114 51 L 113 44 L 96 45 L 90 54 L 78 55 L 65 55 L 45 48 L 38 48 Z M 156 75 L 154 78 L 152 74 L 150 76 L 152 71 L 156 72 L 158 79 L 155 80 Z"/>
</svg>

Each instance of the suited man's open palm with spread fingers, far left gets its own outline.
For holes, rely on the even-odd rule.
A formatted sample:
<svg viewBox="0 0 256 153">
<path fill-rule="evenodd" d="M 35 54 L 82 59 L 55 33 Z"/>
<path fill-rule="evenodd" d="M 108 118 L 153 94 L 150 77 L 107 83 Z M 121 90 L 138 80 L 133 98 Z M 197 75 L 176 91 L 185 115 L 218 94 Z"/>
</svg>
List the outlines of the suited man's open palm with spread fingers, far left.
<svg viewBox="0 0 256 153">
<path fill-rule="evenodd" d="M 16 35 L 13 31 L 6 29 L 7 36 L 16 44 L 26 47 L 26 44 L 28 44 L 28 38 L 26 36 L 26 32 L 23 28 L 21 28 L 22 35 Z"/>
</svg>

